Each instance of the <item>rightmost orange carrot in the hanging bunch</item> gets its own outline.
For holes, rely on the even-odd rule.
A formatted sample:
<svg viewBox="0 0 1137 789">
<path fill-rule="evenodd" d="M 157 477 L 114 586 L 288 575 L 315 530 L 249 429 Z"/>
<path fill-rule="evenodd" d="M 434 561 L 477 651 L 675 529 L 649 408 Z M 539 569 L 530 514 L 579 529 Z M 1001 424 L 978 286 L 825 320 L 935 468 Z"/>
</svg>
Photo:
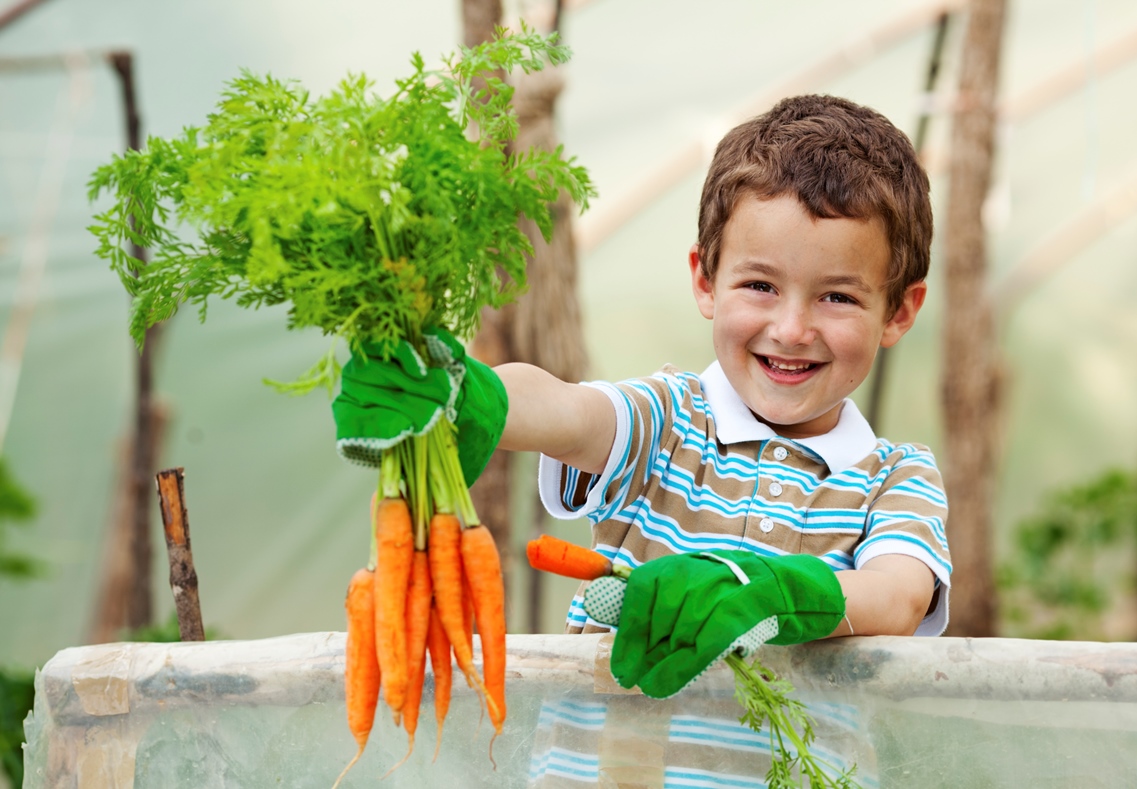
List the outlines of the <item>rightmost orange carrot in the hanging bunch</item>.
<svg viewBox="0 0 1137 789">
<path fill-rule="evenodd" d="M 474 620 L 482 640 L 485 703 L 493 731 L 500 734 L 505 722 L 505 587 L 501 558 L 484 525 L 462 530 L 462 566 L 470 581 Z"/>
</svg>

